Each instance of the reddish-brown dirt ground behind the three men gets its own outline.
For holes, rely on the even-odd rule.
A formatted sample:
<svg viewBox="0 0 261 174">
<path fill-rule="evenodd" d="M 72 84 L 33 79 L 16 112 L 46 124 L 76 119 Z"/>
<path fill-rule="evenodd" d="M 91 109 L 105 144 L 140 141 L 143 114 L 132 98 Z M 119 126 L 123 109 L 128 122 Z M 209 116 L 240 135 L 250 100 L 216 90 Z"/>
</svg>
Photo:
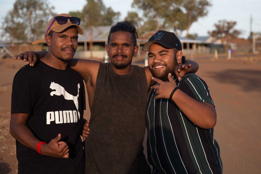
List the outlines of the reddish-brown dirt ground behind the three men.
<svg viewBox="0 0 261 174">
<path fill-rule="evenodd" d="M 220 146 L 224 174 L 261 172 L 261 57 L 194 59 L 216 106 L 214 137 Z M 141 61 L 134 64 L 142 65 Z M 12 81 L 24 66 L 12 58 L 0 60 L 0 174 L 16 174 L 15 139 L 9 133 Z M 85 118 L 90 116 L 87 110 Z"/>
</svg>

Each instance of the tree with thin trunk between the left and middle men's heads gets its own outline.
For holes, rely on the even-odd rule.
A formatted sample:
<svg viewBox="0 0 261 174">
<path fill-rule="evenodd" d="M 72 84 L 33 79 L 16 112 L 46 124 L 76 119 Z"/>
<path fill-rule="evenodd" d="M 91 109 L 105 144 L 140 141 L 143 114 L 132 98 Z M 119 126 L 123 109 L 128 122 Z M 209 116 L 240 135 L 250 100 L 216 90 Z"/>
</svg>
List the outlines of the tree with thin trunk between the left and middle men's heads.
<svg viewBox="0 0 261 174">
<path fill-rule="evenodd" d="M 114 20 L 118 20 L 120 13 L 114 12 L 111 8 L 106 8 L 102 0 L 87 0 L 82 14 L 83 26 L 90 31 L 90 52 L 92 58 L 93 28 L 101 25 L 111 25 Z"/>
</svg>

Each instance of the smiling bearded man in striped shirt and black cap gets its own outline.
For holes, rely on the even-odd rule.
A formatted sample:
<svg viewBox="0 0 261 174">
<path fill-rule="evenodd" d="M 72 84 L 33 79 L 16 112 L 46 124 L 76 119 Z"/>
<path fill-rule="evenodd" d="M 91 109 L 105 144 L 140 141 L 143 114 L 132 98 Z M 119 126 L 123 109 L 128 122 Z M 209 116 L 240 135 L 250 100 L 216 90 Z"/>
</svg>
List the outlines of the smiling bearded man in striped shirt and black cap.
<svg viewBox="0 0 261 174">
<path fill-rule="evenodd" d="M 213 137 L 216 110 L 207 84 L 187 73 L 180 81 L 174 67 L 185 60 L 174 33 L 157 31 L 144 45 L 152 79 L 146 126 L 152 173 L 222 173 L 220 149 Z"/>
</svg>

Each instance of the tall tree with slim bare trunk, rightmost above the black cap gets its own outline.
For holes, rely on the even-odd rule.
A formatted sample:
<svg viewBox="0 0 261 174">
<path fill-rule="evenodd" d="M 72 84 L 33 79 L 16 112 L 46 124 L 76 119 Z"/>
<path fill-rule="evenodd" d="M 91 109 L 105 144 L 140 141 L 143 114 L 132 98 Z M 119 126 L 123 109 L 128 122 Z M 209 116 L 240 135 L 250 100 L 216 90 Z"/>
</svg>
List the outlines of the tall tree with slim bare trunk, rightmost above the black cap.
<svg viewBox="0 0 261 174">
<path fill-rule="evenodd" d="M 192 23 L 196 22 L 198 18 L 206 16 L 208 13 L 207 7 L 211 6 L 211 4 L 207 0 L 184 0 L 182 6 L 187 21 L 185 37 L 188 38 Z"/>
</svg>

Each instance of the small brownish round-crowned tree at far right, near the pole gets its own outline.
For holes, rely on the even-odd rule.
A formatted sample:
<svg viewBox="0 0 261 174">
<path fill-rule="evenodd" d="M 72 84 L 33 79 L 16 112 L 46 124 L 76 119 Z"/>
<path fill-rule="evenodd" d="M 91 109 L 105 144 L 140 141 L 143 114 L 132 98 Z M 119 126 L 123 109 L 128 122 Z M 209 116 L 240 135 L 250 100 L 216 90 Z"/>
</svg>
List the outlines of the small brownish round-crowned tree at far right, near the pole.
<svg viewBox="0 0 261 174">
<path fill-rule="evenodd" d="M 222 45 L 227 53 L 228 43 L 232 38 L 237 38 L 242 31 L 234 29 L 236 21 L 220 20 L 217 24 L 214 24 L 216 30 L 208 31 L 208 34 L 216 40 L 221 40 Z"/>
</svg>

